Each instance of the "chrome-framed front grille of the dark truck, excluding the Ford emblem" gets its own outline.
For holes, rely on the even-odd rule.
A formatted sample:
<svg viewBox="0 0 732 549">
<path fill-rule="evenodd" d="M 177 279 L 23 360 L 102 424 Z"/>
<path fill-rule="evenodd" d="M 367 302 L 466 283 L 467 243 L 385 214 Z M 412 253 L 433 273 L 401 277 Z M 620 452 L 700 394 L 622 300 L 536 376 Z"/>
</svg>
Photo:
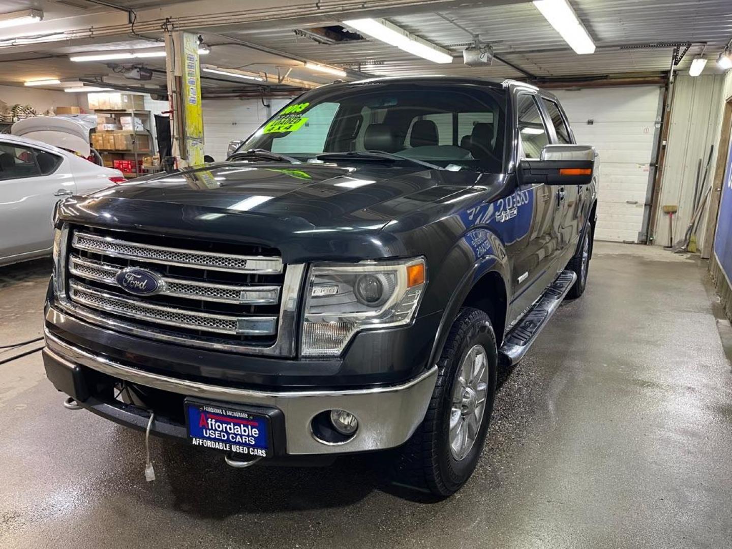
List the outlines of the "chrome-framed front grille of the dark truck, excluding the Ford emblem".
<svg viewBox="0 0 732 549">
<path fill-rule="evenodd" d="M 293 356 L 303 265 L 277 250 L 108 229 L 67 229 L 59 304 L 111 329 L 189 346 Z M 240 252 L 240 253 L 239 253 Z M 135 267 L 163 283 L 152 295 L 117 282 Z"/>
</svg>

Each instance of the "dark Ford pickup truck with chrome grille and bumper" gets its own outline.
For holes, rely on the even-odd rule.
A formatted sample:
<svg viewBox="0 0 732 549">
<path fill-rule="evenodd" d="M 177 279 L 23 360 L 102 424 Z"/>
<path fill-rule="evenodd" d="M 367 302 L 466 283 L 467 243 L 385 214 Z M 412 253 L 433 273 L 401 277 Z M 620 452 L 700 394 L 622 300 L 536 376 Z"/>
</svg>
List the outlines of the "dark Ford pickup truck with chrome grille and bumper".
<svg viewBox="0 0 732 549">
<path fill-rule="evenodd" d="M 224 162 L 59 203 L 48 378 L 232 466 L 391 449 L 448 496 L 498 365 L 585 289 L 595 156 L 526 83 L 307 91 Z"/>
</svg>

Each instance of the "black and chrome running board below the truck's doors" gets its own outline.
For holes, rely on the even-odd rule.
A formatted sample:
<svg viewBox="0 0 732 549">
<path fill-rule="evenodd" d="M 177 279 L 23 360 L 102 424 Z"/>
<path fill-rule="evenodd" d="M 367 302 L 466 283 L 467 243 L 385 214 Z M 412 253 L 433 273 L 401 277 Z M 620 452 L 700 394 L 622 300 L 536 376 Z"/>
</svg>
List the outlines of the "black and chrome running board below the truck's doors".
<svg viewBox="0 0 732 549">
<path fill-rule="evenodd" d="M 529 313 L 507 334 L 503 346 L 498 349 L 502 359 L 509 365 L 515 365 L 523 358 L 576 280 L 577 275 L 573 271 L 563 271 L 556 277 Z"/>
</svg>

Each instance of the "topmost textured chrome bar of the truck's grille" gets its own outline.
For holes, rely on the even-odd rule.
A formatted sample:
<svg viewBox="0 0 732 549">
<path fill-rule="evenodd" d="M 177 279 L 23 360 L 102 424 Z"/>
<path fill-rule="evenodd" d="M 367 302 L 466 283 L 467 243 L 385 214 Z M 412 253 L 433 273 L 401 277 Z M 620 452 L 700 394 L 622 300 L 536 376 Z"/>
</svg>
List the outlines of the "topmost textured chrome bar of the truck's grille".
<svg viewBox="0 0 732 549">
<path fill-rule="evenodd" d="M 244 272 L 258 275 L 277 275 L 283 271 L 282 258 L 264 255 L 231 255 L 227 253 L 184 250 L 152 244 L 140 244 L 99 236 L 96 234 L 74 232 L 72 246 L 116 258 L 135 259 L 164 265 L 210 269 L 212 271 Z"/>
</svg>

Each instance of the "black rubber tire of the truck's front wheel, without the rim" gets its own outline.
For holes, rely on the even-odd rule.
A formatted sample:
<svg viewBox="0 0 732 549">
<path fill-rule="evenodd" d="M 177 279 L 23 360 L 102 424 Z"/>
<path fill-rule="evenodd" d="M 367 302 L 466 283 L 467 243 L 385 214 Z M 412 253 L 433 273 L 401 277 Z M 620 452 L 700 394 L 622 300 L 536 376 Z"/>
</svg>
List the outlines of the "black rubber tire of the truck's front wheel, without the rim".
<svg viewBox="0 0 732 549">
<path fill-rule="evenodd" d="M 452 391 L 460 378 L 463 359 L 477 345 L 485 349 L 488 358 L 485 408 L 471 449 L 464 458 L 458 460 L 452 454 L 449 442 Z M 490 318 L 482 310 L 463 307 L 452 324 L 437 363 L 437 381 L 425 421 L 398 449 L 396 482 L 447 497 L 460 490 L 471 477 L 480 459 L 493 411 L 497 359 L 496 336 Z"/>
</svg>

